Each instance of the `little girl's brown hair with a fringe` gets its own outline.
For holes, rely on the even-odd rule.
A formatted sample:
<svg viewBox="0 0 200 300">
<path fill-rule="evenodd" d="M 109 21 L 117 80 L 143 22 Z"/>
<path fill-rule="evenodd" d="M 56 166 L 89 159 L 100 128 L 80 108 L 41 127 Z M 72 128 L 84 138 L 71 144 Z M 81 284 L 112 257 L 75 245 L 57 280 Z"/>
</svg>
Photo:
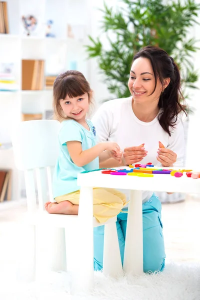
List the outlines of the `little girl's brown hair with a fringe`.
<svg viewBox="0 0 200 300">
<path fill-rule="evenodd" d="M 54 115 L 58 120 L 67 119 L 63 114 L 60 106 L 60 99 L 64 99 L 66 95 L 69 98 L 88 94 L 89 104 L 92 103 L 92 90 L 84 75 L 76 70 L 67 70 L 60 73 L 53 83 L 53 109 Z"/>
</svg>

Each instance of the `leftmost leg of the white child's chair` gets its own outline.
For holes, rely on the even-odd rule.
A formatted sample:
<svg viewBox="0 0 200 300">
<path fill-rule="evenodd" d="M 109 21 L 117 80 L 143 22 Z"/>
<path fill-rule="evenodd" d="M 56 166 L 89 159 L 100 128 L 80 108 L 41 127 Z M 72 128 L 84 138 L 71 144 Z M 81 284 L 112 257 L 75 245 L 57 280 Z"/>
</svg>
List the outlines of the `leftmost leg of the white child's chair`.
<svg viewBox="0 0 200 300">
<path fill-rule="evenodd" d="M 16 279 L 31 282 L 35 280 L 35 225 L 23 223 L 18 230 Z"/>
</svg>

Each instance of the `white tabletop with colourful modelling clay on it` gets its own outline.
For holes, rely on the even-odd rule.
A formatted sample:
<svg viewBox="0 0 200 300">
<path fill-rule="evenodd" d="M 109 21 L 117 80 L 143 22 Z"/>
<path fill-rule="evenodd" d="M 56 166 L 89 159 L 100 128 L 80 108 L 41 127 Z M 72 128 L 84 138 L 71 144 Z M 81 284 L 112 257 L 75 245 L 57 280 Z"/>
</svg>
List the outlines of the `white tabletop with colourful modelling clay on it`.
<svg viewBox="0 0 200 300">
<path fill-rule="evenodd" d="M 129 169 L 128 167 L 120 168 Z M 102 174 L 101 170 L 97 170 L 88 173 L 79 173 L 77 184 L 80 186 L 111 187 L 116 189 L 200 193 L 200 178 L 189 178 L 185 173 L 181 177 L 174 177 L 170 174 L 154 174 L 153 177 L 138 177 Z"/>
</svg>

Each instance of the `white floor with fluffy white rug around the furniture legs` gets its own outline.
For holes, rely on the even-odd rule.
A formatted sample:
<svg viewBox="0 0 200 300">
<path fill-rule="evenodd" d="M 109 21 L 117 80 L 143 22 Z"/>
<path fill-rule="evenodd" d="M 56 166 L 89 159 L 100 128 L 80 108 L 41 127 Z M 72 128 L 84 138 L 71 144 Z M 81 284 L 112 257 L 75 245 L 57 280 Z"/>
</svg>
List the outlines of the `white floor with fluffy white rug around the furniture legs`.
<svg viewBox="0 0 200 300">
<path fill-rule="evenodd" d="M 200 197 L 187 196 L 184 202 L 163 204 L 162 222 L 166 250 L 166 268 L 161 274 L 125 277 L 120 281 L 95 274 L 92 294 L 71 296 L 66 273 L 52 273 L 43 282 L 14 285 L 15 223 L 26 210 L 25 200 L 0 203 L 0 299 L 48 300 L 199 300 L 200 299 Z M 4 283 L 3 283 L 4 282 Z M 36 291 L 35 291 L 36 290 Z"/>
</svg>

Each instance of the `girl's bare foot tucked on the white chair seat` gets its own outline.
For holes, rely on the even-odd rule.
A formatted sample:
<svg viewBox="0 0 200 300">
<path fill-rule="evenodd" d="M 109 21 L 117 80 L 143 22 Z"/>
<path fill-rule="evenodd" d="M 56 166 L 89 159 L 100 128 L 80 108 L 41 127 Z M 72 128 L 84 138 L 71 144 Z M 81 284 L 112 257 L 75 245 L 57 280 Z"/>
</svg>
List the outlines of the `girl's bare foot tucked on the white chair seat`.
<svg viewBox="0 0 200 300">
<path fill-rule="evenodd" d="M 44 207 L 49 213 L 78 214 L 78 205 L 72 204 L 70 201 L 46 202 Z"/>
</svg>

